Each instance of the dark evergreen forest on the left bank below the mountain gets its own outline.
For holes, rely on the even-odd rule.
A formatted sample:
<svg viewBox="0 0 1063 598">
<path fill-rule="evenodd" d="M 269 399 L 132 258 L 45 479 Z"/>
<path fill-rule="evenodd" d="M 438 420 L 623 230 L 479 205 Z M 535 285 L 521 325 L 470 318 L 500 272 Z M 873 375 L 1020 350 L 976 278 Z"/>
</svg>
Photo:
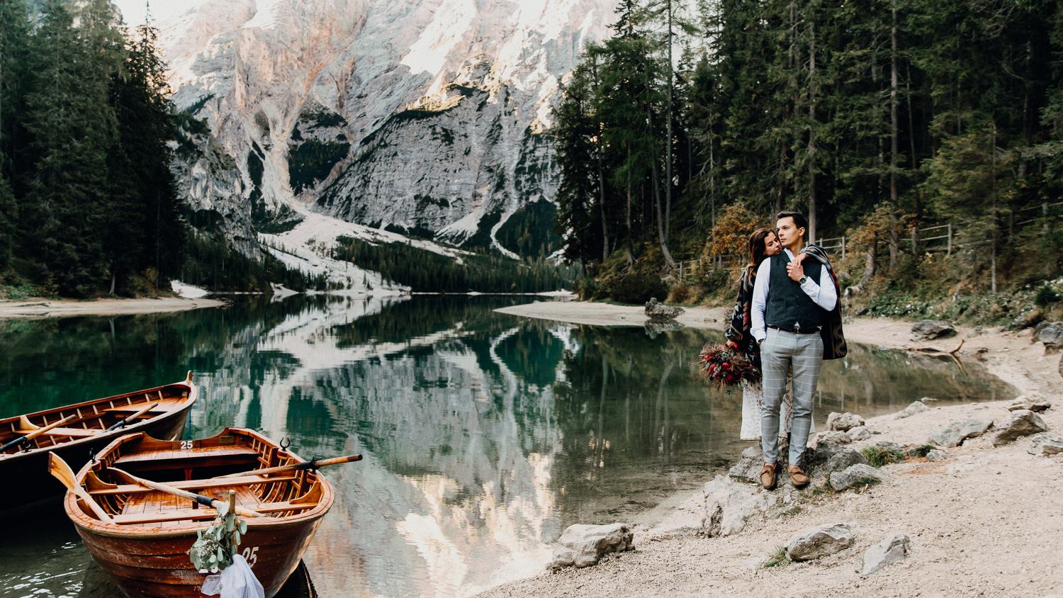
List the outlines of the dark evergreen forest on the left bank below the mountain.
<svg viewBox="0 0 1063 598">
<path fill-rule="evenodd" d="M 0 0 L 0 286 L 72 297 L 155 294 L 173 278 L 324 288 L 188 225 L 171 143 L 206 124 L 170 102 L 156 36 L 122 27 L 108 0 Z"/>
</svg>

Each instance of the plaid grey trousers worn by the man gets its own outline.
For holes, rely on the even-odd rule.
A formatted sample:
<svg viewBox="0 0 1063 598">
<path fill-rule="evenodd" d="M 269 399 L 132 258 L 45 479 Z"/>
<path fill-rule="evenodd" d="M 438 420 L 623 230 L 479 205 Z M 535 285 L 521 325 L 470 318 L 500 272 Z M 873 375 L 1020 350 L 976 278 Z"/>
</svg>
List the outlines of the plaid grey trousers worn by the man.
<svg viewBox="0 0 1063 598">
<path fill-rule="evenodd" d="M 823 364 L 823 339 L 817 334 L 795 335 L 774 328 L 760 344 L 764 400 L 760 408 L 760 446 L 764 463 L 779 458 L 779 405 L 793 369 L 794 411 L 790 427 L 790 464 L 800 465 L 812 426 L 812 397 Z"/>
</svg>

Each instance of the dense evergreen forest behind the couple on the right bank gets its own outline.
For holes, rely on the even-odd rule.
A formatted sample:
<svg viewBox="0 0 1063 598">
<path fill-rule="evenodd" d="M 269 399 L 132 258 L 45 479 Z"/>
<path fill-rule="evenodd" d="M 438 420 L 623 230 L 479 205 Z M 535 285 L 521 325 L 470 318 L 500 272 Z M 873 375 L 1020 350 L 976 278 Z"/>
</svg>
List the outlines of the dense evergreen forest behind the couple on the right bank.
<svg viewBox="0 0 1063 598">
<path fill-rule="evenodd" d="M 1063 3 L 623 0 L 617 16 L 555 108 L 557 230 L 591 266 L 585 294 L 643 271 L 698 301 L 749 232 L 797 209 L 873 312 L 1058 301 Z"/>
</svg>

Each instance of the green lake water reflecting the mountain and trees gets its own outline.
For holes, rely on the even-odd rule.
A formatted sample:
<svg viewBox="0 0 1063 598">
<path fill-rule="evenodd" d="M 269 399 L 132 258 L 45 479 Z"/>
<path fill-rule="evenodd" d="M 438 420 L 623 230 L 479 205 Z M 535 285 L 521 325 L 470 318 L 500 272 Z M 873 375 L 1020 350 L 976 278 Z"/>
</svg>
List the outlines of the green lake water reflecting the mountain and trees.
<svg viewBox="0 0 1063 598">
<path fill-rule="evenodd" d="M 721 332 L 493 311 L 534 298 L 297 295 L 0 321 L 0 417 L 192 370 L 191 434 L 243 426 L 303 458 L 365 456 L 326 471 L 336 503 L 305 557 L 321 596 L 462 596 L 541 570 L 571 524 L 653 523 L 750 444 L 741 393 L 691 366 Z M 849 347 L 824 366 L 820 429 L 830 411 L 1015 395 L 975 362 Z M 94 566 L 58 501 L 0 518 L 0 596 L 106 595 L 86 590 Z"/>
</svg>

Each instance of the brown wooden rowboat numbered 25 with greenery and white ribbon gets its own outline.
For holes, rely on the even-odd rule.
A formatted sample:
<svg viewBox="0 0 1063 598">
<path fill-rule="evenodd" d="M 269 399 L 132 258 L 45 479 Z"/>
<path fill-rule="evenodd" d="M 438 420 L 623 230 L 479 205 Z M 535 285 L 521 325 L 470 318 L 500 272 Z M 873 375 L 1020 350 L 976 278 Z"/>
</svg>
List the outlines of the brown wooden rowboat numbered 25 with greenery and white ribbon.
<svg viewBox="0 0 1063 598">
<path fill-rule="evenodd" d="M 242 428 L 191 441 L 129 434 L 97 459 L 78 473 L 77 483 L 113 522 L 102 520 L 73 493 L 67 493 L 63 505 L 92 559 L 131 597 L 202 597 L 207 574 L 197 571 L 186 552 L 197 530 L 206 528 L 217 512 L 141 483 L 126 483 L 130 477 L 221 500 L 233 490 L 237 508 L 266 514 L 241 517 L 248 529 L 239 550 L 267 598 L 299 565 L 333 503 L 332 485 L 314 469 L 252 473 L 303 460 Z M 231 476 L 241 472 L 246 474 Z"/>
</svg>

